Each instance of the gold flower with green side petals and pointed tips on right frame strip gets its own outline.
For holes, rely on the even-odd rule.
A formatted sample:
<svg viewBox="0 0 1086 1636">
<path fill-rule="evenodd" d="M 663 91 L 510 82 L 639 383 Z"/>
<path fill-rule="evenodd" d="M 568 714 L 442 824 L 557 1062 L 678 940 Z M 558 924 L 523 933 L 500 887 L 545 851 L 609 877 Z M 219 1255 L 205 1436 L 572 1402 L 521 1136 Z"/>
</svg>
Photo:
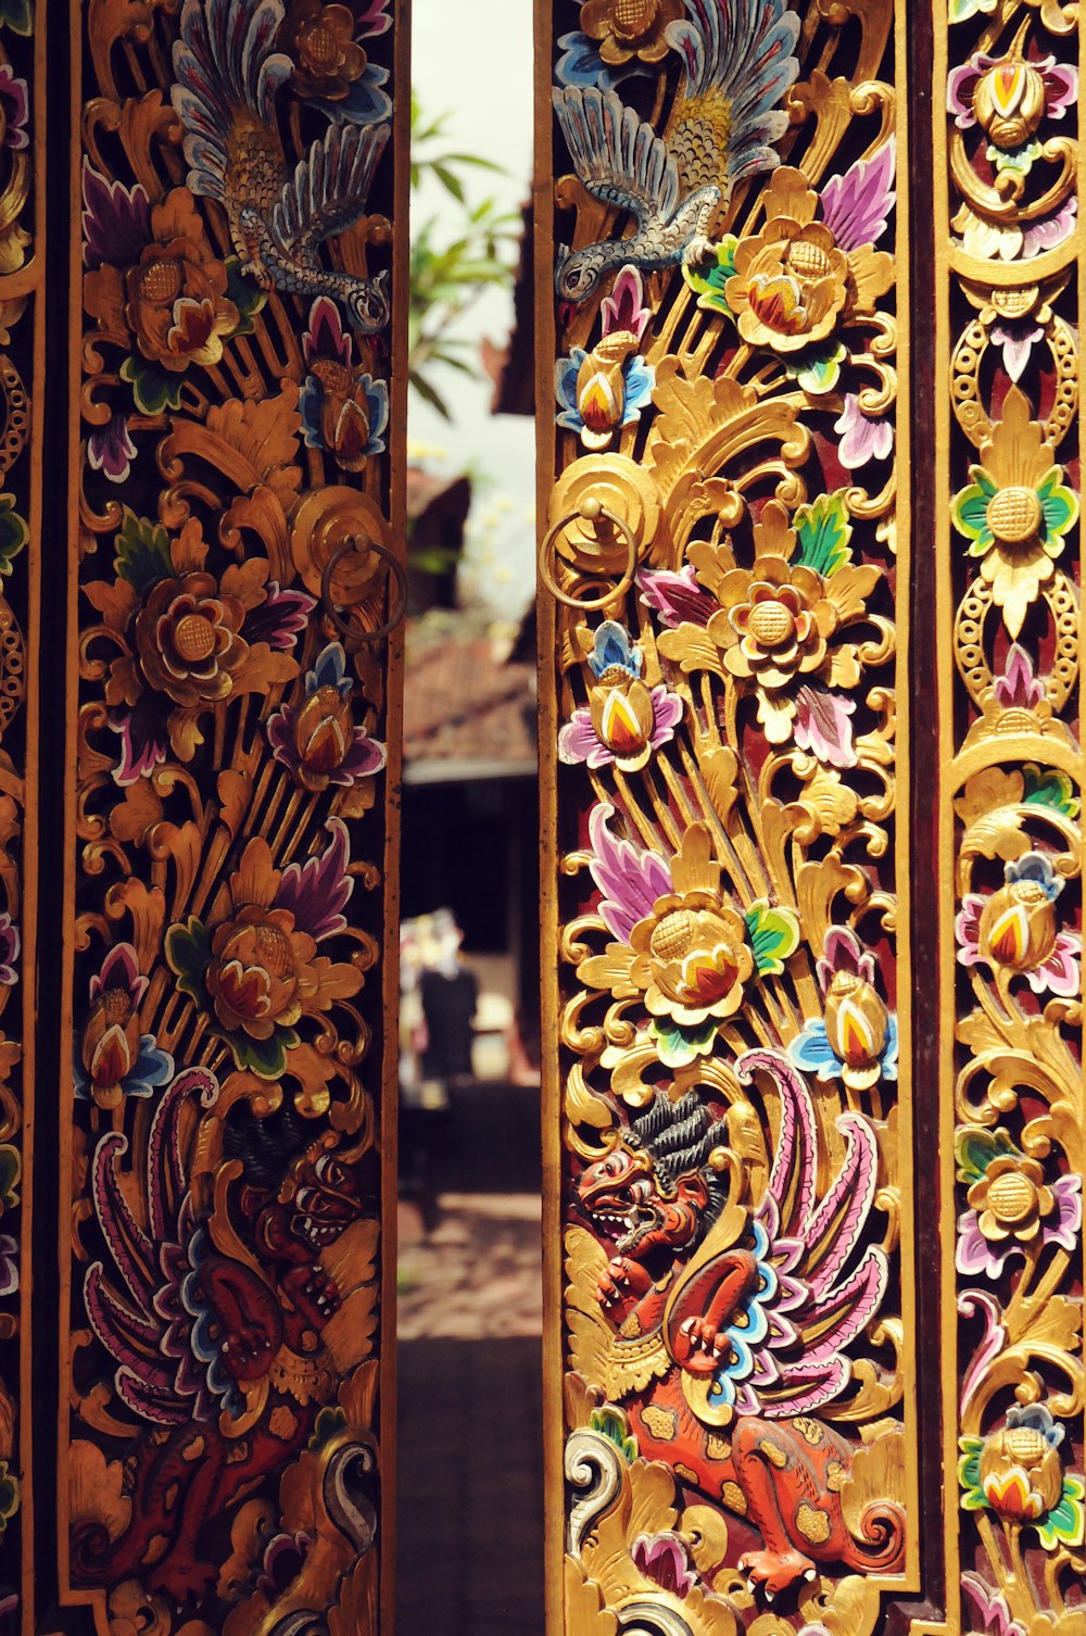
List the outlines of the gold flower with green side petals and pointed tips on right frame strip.
<svg viewBox="0 0 1086 1636">
<path fill-rule="evenodd" d="M 955 496 L 954 525 L 970 540 L 968 555 L 980 558 L 993 602 L 1003 609 L 1011 638 L 1017 638 L 1042 586 L 1055 574 L 1078 520 L 1078 497 L 1063 483 L 1063 468 L 1017 386 L 1011 386 L 1003 419 L 994 422 L 980 456 L 970 466 L 968 488 Z"/>
</svg>

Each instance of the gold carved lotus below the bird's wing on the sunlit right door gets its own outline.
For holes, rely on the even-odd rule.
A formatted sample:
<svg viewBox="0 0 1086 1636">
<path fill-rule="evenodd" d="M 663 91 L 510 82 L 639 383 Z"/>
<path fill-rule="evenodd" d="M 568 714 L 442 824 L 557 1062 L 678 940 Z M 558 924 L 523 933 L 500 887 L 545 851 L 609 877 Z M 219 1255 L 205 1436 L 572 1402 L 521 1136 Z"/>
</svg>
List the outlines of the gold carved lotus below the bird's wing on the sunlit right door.
<svg viewBox="0 0 1086 1636">
<path fill-rule="evenodd" d="M 734 249 L 725 298 L 751 347 L 800 352 L 826 340 L 849 311 L 872 311 L 893 281 L 893 260 L 870 244 L 842 249 L 818 221 L 819 196 L 798 170 L 775 172 L 765 226 Z"/>
</svg>

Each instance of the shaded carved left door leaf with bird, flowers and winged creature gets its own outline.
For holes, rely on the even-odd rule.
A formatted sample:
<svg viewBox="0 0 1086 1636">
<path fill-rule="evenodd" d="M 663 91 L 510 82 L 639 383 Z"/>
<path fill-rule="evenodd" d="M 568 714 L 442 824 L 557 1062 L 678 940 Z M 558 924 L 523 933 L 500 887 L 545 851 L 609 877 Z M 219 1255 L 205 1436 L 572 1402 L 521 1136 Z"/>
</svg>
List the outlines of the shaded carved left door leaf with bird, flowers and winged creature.
<svg viewBox="0 0 1086 1636">
<path fill-rule="evenodd" d="M 397 10 L 72 10 L 61 1593 L 113 1636 L 378 1628 Z"/>
</svg>

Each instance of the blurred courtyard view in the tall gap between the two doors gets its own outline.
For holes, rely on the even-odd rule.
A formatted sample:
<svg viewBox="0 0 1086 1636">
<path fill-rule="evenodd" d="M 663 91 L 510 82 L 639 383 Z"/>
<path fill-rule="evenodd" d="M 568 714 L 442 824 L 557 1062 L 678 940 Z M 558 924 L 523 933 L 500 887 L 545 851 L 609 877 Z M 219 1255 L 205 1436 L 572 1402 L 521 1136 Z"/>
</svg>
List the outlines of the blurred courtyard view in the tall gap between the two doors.
<svg viewBox="0 0 1086 1636">
<path fill-rule="evenodd" d="M 532 8 L 412 8 L 397 1628 L 541 1636 Z"/>
</svg>

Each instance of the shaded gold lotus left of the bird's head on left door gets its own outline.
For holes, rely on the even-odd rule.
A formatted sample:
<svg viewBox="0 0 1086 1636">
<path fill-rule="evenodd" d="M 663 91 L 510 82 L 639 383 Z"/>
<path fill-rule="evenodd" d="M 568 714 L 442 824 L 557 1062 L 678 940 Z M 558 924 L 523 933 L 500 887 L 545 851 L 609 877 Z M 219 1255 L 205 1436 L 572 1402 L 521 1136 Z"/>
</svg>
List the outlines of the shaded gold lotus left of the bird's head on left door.
<svg viewBox="0 0 1086 1636">
<path fill-rule="evenodd" d="M 188 188 L 150 209 L 152 242 L 124 275 L 124 317 L 144 358 L 165 370 L 218 363 L 240 314 Z"/>
</svg>

